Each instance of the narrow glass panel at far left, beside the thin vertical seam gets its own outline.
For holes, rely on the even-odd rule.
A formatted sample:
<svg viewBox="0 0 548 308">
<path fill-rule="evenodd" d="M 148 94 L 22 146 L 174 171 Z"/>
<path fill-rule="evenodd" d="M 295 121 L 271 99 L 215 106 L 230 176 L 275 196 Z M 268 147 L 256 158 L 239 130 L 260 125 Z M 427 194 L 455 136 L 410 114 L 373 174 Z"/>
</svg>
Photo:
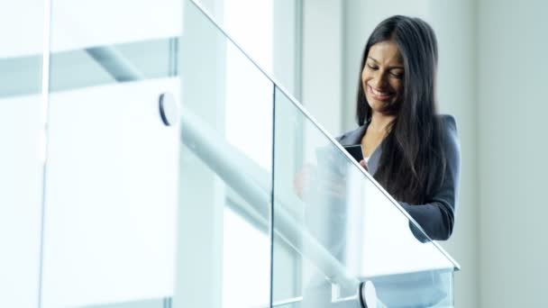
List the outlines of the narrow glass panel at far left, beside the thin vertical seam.
<svg viewBox="0 0 548 308">
<path fill-rule="evenodd" d="M 0 2 L 0 307 L 37 307 L 44 1 Z"/>
</svg>

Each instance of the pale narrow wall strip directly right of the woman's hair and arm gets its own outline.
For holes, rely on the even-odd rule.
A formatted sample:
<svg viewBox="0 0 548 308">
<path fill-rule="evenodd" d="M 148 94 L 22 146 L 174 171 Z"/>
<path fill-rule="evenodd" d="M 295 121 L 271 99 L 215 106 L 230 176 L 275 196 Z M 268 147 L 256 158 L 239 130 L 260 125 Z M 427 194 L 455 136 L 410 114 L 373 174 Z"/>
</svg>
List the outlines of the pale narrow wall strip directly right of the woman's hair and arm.
<svg viewBox="0 0 548 308">
<path fill-rule="evenodd" d="M 428 22 L 438 39 L 440 111 L 455 116 L 461 141 L 461 190 L 452 238 L 441 242 L 460 264 L 455 306 L 479 305 L 475 7 L 473 1 L 432 1 Z"/>
</svg>

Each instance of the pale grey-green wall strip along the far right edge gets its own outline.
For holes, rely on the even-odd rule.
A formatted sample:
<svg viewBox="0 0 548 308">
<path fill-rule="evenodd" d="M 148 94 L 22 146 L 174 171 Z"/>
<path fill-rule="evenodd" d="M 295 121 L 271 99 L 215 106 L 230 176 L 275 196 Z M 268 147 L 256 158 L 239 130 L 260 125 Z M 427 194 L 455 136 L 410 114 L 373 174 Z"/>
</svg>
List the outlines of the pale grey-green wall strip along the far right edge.
<svg viewBox="0 0 548 308">
<path fill-rule="evenodd" d="M 547 11 L 543 1 L 479 5 L 481 307 L 548 306 Z"/>
</svg>

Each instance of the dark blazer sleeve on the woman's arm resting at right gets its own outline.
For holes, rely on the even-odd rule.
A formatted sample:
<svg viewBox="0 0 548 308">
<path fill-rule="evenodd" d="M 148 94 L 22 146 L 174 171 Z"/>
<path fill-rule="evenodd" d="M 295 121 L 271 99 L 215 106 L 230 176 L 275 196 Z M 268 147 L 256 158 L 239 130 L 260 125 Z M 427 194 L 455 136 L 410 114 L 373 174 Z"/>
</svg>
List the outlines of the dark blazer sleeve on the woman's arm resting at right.
<svg viewBox="0 0 548 308">
<path fill-rule="evenodd" d="M 452 234 L 461 173 L 461 148 L 455 120 L 450 115 L 443 115 L 443 124 L 447 164 L 442 185 L 426 204 L 399 203 L 432 240 L 448 240 Z M 410 223 L 410 227 L 418 240 L 428 240 L 415 225 Z"/>
</svg>

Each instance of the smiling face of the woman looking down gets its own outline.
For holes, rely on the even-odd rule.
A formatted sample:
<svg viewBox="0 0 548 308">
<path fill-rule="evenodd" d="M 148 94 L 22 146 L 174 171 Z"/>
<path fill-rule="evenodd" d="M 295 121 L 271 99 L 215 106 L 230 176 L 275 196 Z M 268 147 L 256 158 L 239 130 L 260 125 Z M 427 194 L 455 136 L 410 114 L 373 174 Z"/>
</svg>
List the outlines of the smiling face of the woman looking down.
<svg viewBox="0 0 548 308">
<path fill-rule="evenodd" d="M 385 104 L 399 100 L 403 93 L 404 66 L 393 41 L 381 41 L 371 46 L 361 71 L 361 86 L 374 112 Z"/>
</svg>

